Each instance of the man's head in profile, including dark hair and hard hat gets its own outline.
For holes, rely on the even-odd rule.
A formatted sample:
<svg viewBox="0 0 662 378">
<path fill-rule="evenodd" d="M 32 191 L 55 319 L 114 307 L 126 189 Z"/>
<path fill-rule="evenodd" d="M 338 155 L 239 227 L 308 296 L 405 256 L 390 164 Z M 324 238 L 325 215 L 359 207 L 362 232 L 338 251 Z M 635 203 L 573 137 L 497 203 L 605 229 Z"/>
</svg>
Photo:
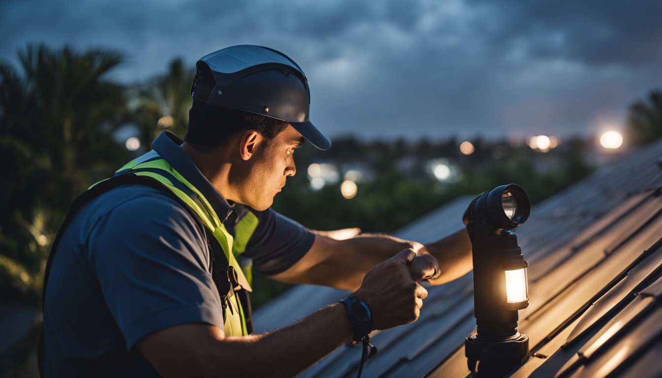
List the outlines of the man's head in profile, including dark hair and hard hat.
<svg viewBox="0 0 662 378">
<path fill-rule="evenodd" d="M 308 119 L 303 71 L 275 50 L 244 45 L 204 56 L 191 95 L 185 140 L 203 153 L 231 143 L 236 160 L 228 195 L 254 209 L 271 206 L 286 177 L 295 174 L 293 151 L 304 139 L 330 147 Z"/>
</svg>

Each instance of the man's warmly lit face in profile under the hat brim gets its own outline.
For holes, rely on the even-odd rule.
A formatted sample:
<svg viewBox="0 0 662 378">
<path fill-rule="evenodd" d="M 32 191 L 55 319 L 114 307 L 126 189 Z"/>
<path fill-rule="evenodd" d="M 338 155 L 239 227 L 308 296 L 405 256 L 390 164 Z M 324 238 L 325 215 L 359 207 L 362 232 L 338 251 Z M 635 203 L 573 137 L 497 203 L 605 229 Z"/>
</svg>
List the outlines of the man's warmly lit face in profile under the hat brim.
<svg viewBox="0 0 662 378">
<path fill-rule="evenodd" d="M 287 176 L 295 175 L 294 150 L 303 143 L 303 136 L 287 125 L 272 140 L 262 140 L 247 161 L 246 180 L 240 190 L 241 203 L 258 211 L 273 204 L 273 197 L 285 186 Z"/>
</svg>

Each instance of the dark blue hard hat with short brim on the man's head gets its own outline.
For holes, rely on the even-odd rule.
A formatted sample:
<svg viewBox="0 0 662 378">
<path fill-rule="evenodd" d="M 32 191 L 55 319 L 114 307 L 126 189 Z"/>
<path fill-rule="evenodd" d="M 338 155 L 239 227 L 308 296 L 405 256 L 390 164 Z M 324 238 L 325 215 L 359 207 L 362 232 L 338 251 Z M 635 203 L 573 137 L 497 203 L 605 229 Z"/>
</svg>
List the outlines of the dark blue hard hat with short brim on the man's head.
<svg viewBox="0 0 662 378">
<path fill-rule="evenodd" d="M 310 122 L 306 75 L 272 48 L 244 44 L 203 56 L 197 62 L 191 96 L 210 105 L 284 120 L 320 150 L 331 147 L 331 141 Z"/>
</svg>

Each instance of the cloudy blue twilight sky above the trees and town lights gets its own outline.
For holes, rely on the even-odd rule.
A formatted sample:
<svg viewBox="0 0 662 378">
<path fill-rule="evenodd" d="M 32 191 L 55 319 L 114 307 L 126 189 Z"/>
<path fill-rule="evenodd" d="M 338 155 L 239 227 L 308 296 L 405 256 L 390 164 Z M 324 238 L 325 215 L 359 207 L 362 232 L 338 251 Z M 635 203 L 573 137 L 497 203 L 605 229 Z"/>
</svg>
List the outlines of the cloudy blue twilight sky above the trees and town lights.
<svg viewBox="0 0 662 378">
<path fill-rule="evenodd" d="M 130 83 L 234 44 L 303 68 L 329 136 L 591 134 L 662 87 L 662 1 L 1 0 L 0 59 L 28 42 L 126 54 Z"/>
</svg>

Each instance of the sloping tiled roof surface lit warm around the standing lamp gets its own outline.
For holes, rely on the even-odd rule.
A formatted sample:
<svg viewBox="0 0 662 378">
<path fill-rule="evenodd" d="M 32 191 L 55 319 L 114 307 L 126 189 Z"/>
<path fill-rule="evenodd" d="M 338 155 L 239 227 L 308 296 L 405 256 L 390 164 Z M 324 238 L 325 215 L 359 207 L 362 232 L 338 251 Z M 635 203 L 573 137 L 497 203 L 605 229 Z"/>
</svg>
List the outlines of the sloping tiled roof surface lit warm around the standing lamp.
<svg viewBox="0 0 662 378">
<path fill-rule="evenodd" d="M 530 359 L 514 377 L 662 376 L 662 142 L 631 152 L 534 207 L 518 230 L 530 305 L 518 329 Z M 526 189 L 526 188 L 525 188 Z M 471 197 L 397 232 L 429 242 L 461 227 Z M 471 274 L 428 287 L 418 321 L 373 332 L 364 377 L 467 377 L 475 328 Z M 290 324 L 346 293 L 302 286 L 256 313 L 256 329 Z M 360 350 L 342 346 L 303 377 L 350 377 Z"/>
</svg>

